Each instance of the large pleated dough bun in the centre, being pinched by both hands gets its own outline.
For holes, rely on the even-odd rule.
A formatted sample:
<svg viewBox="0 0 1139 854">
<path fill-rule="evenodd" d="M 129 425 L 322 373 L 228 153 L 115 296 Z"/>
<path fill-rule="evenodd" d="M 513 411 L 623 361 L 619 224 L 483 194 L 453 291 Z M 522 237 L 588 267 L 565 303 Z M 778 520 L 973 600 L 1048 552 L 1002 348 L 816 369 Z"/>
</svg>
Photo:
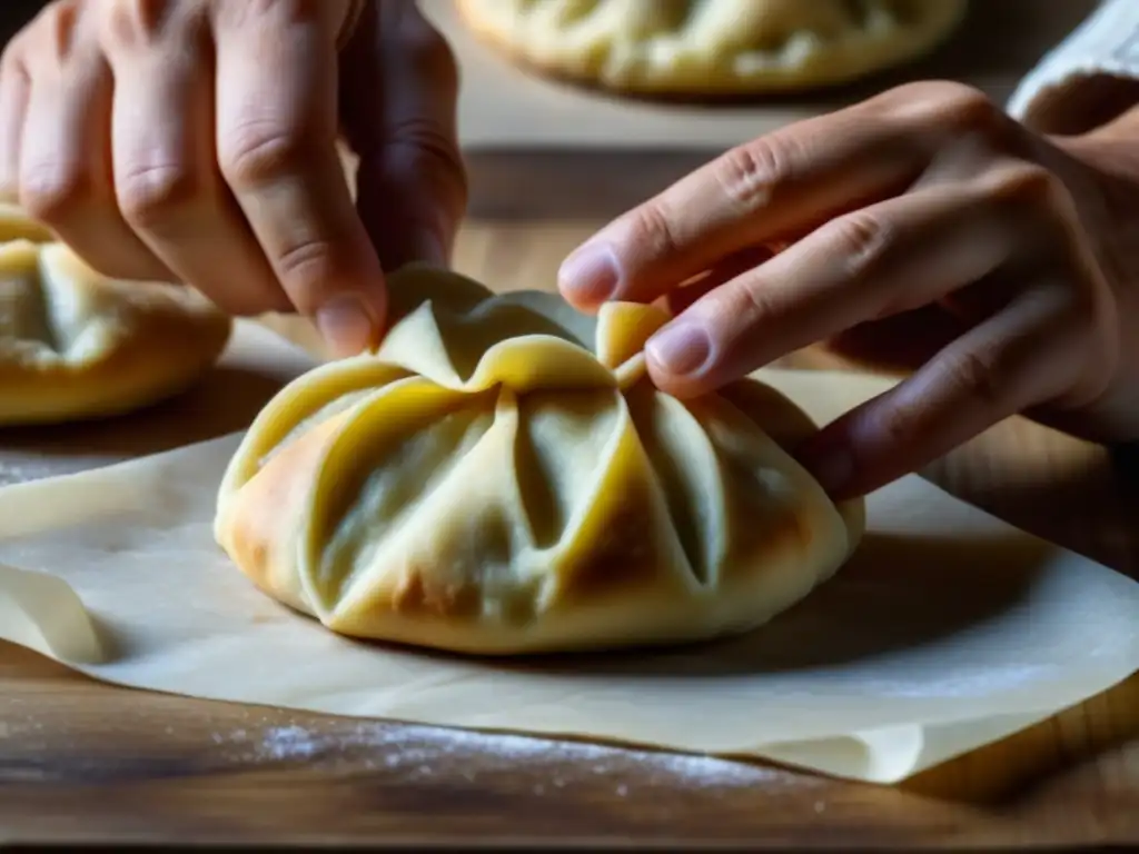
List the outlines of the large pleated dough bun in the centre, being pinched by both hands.
<svg viewBox="0 0 1139 854">
<path fill-rule="evenodd" d="M 502 655 L 711 639 L 858 542 L 861 502 L 836 507 L 780 446 L 814 430 L 786 399 L 655 389 L 662 310 L 593 320 L 419 266 L 388 285 L 380 348 L 288 385 L 218 499 L 237 566 L 335 632 Z"/>
</svg>

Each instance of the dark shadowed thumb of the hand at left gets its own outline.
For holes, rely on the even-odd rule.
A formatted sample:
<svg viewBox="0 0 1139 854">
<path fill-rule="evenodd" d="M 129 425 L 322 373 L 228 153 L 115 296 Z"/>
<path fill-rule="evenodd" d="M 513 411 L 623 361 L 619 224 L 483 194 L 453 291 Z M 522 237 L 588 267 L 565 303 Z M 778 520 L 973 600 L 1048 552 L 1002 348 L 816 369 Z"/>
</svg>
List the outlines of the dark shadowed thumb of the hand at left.
<svg viewBox="0 0 1139 854">
<path fill-rule="evenodd" d="M 357 207 L 380 263 L 445 266 L 467 205 L 450 47 L 412 0 L 369 2 L 342 74 L 344 134 L 359 158 Z"/>
</svg>

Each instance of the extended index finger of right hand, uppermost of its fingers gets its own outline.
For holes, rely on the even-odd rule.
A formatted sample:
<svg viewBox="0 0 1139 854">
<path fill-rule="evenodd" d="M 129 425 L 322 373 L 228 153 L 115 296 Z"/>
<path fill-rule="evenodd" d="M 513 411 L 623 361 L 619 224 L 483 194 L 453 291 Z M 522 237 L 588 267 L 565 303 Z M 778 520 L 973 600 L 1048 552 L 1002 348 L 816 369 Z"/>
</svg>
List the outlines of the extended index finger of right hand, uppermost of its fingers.
<svg viewBox="0 0 1139 854">
<path fill-rule="evenodd" d="M 927 166 L 936 131 L 982 112 L 965 87 L 917 85 L 921 92 L 900 88 L 718 157 L 571 255 L 558 277 L 563 294 L 581 309 L 650 302 L 729 255 L 893 197 Z"/>
</svg>

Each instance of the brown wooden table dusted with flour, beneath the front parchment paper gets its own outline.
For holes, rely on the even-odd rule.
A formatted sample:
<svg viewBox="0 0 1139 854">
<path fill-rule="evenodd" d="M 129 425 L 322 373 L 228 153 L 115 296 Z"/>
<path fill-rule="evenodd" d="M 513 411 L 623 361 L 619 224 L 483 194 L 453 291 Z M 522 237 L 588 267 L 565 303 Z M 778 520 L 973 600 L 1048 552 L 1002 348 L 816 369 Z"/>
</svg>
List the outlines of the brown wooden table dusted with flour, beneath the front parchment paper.
<svg viewBox="0 0 1139 854">
<path fill-rule="evenodd" d="M 502 288 L 549 287 L 589 230 L 482 222 L 464 233 L 457 265 Z M 1014 420 L 928 474 L 1022 527 L 1139 573 L 1139 490 L 1113 476 L 1099 449 Z M 588 746 L 515 753 L 481 753 L 423 728 L 109 688 L 0 648 L 8 841 L 1139 841 L 1139 678 L 899 788 Z"/>
</svg>

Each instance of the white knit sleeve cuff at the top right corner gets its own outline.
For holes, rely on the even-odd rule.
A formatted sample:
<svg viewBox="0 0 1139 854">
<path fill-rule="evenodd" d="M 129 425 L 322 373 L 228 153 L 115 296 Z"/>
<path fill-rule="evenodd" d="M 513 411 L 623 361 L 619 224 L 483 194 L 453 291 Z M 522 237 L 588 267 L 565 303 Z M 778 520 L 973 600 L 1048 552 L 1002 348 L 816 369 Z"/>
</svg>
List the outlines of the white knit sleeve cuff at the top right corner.
<svg viewBox="0 0 1139 854">
<path fill-rule="evenodd" d="M 1064 2 L 1064 0 L 1043 0 Z M 1072 132 L 1082 99 L 1139 102 L 1139 0 L 1101 0 L 1099 8 L 1021 81 L 1008 112 L 1041 132 Z M 1108 92 L 1114 88 L 1114 91 Z M 1083 128 L 1080 130 L 1090 130 Z"/>
</svg>

